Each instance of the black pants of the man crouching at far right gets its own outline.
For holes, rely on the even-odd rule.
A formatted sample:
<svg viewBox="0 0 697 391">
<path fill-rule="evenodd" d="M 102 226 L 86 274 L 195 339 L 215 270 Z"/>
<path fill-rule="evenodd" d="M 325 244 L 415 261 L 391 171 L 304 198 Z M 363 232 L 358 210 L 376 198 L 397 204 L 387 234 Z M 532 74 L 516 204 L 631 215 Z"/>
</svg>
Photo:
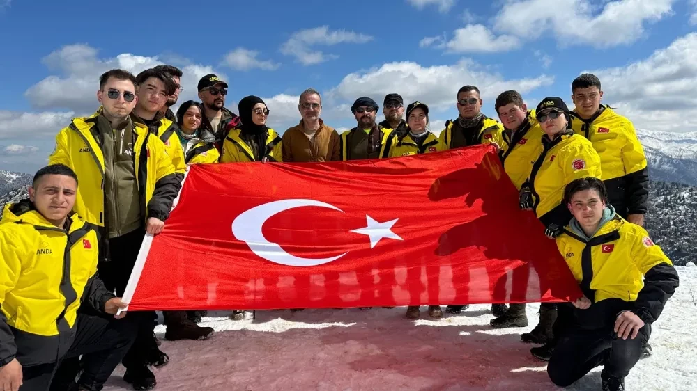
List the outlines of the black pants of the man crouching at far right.
<svg viewBox="0 0 697 391">
<path fill-rule="evenodd" d="M 626 377 L 648 342 L 651 326 L 643 326 L 634 340 L 618 338 L 613 328 L 614 324 L 596 330 L 569 325 L 558 337 L 547 365 L 551 381 L 567 387 L 599 365 L 613 376 Z"/>
</svg>

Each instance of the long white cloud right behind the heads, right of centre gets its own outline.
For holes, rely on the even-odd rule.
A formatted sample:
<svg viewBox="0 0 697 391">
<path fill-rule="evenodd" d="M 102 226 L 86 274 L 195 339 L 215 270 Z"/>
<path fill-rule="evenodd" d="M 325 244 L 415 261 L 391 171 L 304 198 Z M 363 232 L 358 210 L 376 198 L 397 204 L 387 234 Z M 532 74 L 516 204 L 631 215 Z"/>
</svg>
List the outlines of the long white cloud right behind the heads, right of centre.
<svg viewBox="0 0 697 391">
<path fill-rule="evenodd" d="M 367 72 L 348 74 L 328 95 L 350 102 L 367 95 L 376 102 L 382 102 L 386 94 L 398 91 L 405 102 L 418 99 L 428 104 L 431 110 L 442 111 L 454 108 L 457 89 L 466 84 L 480 88 L 482 99 L 486 100 L 496 99 L 504 90 L 517 90 L 525 94 L 540 86 L 549 86 L 552 82 L 553 77 L 545 74 L 534 79 L 507 80 L 468 60 L 454 65 L 431 67 L 405 61 L 386 63 Z"/>
</svg>

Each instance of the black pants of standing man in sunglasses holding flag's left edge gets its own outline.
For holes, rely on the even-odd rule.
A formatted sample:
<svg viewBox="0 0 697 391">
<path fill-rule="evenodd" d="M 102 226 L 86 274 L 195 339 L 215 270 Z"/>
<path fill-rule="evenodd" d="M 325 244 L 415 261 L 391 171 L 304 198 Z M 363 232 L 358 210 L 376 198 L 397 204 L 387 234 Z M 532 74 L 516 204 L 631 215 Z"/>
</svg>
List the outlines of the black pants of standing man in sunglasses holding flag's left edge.
<svg viewBox="0 0 697 391">
<path fill-rule="evenodd" d="M 123 296 L 144 237 L 144 230 L 135 230 L 109 239 L 110 260 L 100 264 L 98 269 L 104 285 L 115 290 L 117 296 Z M 158 350 L 158 342 L 154 333 L 155 311 L 130 312 L 127 317 L 137 319 L 139 326 L 136 340 L 123 358 L 123 366 L 128 369 L 146 365 L 152 352 Z"/>
</svg>

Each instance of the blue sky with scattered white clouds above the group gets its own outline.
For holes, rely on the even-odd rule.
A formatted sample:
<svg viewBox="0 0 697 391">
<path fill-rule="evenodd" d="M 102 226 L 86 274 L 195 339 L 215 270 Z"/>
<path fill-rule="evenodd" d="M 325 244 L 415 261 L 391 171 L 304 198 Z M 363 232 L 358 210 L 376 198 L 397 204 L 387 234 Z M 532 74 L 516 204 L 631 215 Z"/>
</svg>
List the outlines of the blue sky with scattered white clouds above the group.
<svg viewBox="0 0 697 391">
<path fill-rule="evenodd" d="M 460 86 L 480 87 L 496 118 L 507 89 L 533 106 L 549 95 L 571 106 L 583 71 L 601 77 L 604 102 L 636 127 L 695 131 L 696 9 L 695 0 L 0 0 L 0 168 L 43 166 L 56 132 L 98 106 L 105 70 L 160 63 L 183 68 L 180 102 L 215 72 L 230 85 L 229 109 L 263 97 L 278 131 L 298 122 L 308 87 L 323 93 L 332 127 L 355 125 L 355 98 L 382 106 L 400 93 L 429 104 L 438 131 L 457 116 Z"/>
</svg>

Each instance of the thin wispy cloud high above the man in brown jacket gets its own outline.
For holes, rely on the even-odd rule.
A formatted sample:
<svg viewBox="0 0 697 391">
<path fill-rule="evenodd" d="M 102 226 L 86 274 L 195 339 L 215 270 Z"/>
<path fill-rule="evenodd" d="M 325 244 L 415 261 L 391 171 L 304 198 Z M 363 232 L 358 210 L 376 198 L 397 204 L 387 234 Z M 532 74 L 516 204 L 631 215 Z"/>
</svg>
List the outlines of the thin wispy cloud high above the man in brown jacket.
<svg viewBox="0 0 697 391">
<path fill-rule="evenodd" d="M 291 38 L 281 45 L 281 53 L 293 56 L 302 65 L 315 65 L 325 61 L 335 60 L 339 56 L 335 54 L 325 54 L 319 50 L 313 50 L 314 45 L 331 46 L 339 43 L 361 44 L 371 41 L 369 35 L 355 33 L 346 30 L 330 31 L 329 26 L 315 27 L 296 31 Z"/>
</svg>

